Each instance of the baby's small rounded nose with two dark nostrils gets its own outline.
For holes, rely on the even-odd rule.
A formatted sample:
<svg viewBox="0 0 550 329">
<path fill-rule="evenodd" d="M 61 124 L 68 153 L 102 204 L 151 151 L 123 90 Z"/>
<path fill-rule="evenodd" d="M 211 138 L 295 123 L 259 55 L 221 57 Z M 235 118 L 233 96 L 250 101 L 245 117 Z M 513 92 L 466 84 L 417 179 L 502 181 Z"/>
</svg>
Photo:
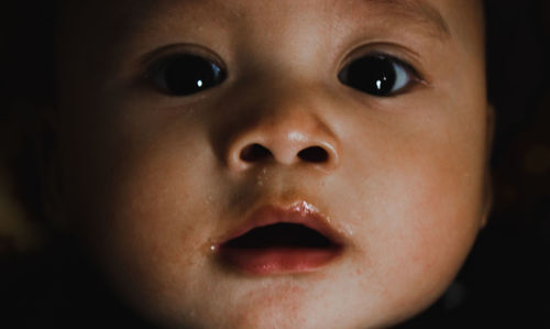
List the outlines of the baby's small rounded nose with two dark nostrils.
<svg viewBox="0 0 550 329">
<path fill-rule="evenodd" d="M 255 105 L 240 112 L 226 147 L 230 169 L 278 164 L 324 171 L 339 163 L 339 142 L 321 108 L 296 98 Z"/>
</svg>

